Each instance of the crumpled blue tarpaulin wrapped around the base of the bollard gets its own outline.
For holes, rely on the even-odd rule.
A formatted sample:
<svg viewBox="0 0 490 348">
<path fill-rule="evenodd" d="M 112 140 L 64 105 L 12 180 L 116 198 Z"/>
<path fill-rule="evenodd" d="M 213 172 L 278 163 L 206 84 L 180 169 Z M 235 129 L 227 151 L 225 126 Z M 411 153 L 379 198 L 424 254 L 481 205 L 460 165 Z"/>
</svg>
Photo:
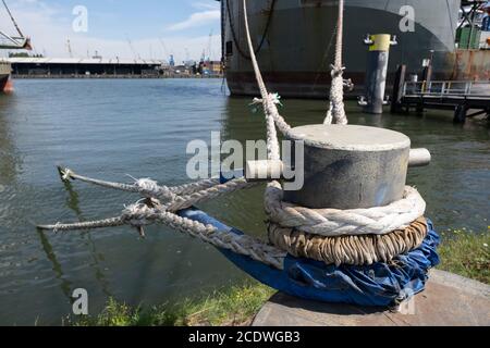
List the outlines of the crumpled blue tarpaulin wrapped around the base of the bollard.
<svg viewBox="0 0 490 348">
<path fill-rule="evenodd" d="M 203 211 L 188 209 L 180 215 L 220 231 L 243 234 Z M 366 266 L 327 265 L 287 256 L 284 270 L 277 270 L 249 257 L 219 249 L 230 261 L 257 281 L 289 295 L 323 302 L 389 307 L 424 290 L 428 271 L 439 264 L 439 235 L 429 221 L 429 233 L 418 249 L 396 257 L 389 264 Z"/>
</svg>

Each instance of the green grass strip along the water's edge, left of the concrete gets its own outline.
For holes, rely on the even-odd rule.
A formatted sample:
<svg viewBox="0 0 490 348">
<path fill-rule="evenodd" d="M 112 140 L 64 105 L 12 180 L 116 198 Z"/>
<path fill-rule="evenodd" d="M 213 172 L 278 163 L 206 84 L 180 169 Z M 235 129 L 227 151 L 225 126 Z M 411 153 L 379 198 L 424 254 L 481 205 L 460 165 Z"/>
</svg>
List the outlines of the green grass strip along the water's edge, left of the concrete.
<svg viewBox="0 0 490 348">
<path fill-rule="evenodd" d="M 85 318 L 82 326 L 246 326 L 274 294 L 256 282 L 233 286 L 198 300 L 163 304 L 149 309 L 131 308 L 111 299 L 97 318 Z"/>
</svg>

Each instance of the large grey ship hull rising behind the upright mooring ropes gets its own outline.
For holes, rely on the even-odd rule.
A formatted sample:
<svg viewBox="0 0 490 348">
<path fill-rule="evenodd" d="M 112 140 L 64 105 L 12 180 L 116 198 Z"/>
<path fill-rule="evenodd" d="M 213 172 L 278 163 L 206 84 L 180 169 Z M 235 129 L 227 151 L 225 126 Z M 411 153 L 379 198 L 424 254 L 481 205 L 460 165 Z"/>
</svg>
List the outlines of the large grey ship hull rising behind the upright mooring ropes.
<svg viewBox="0 0 490 348">
<path fill-rule="evenodd" d="M 332 0 L 255 0 L 248 2 L 252 37 L 265 79 L 284 97 L 326 98 L 333 62 L 338 2 Z M 400 15 L 404 0 L 346 0 L 344 24 L 345 77 L 352 78 L 355 95 L 364 90 L 367 34 L 392 34 L 399 45 L 390 52 L 388 85 L 397 64 L 409 74 L 421 71 L 432 57 L 433 78 L 446 79 L 455 70 L 455 29 L 460 0 L 414 0 L 414 32 L 402 32 Z M 232 95 L 257 95 L 244 35 L 240 0 L 222 0 L 223 55 Z M 269 26 L 266 33 L 267 23 Z M 266 33 L 266 34 L 265 34 Z M 433 51 L 433 52 L 431 52 Z M 245 53 L 245 54 L 243 54 Z"/>
</svg>

